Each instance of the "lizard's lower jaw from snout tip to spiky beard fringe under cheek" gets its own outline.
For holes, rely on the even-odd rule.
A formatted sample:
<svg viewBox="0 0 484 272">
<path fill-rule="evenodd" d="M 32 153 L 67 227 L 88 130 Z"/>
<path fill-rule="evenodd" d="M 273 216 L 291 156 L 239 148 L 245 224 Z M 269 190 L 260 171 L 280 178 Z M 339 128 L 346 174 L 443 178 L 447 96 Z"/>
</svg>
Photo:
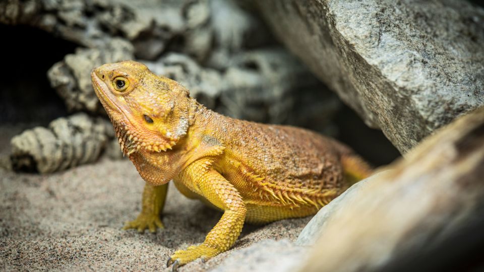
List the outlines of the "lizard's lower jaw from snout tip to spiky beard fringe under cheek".
<svg viewBox="0 0 484 272">
<path fill-rule="evenodd" d="M 172 149 L 176 144 L 176 139 L 169 137 L 166 139 L 165 137 L 160 138 L 160 135 L 156 133 L 149 133 L 146 129 L 137 128 L 135 125 L 136 122 L 133 122 L 130 118 L 130 110 L 115 103 L 116 97 L 114 97 L 114 94 L 108 90 L 106 83 L 104 83 L 94 71 L 91 73 L 91 79 L 94 91 L 111 119 L 123 154 L 129 156 L 141 149 L 154 152 L 162 152 Z"/>
</svg>

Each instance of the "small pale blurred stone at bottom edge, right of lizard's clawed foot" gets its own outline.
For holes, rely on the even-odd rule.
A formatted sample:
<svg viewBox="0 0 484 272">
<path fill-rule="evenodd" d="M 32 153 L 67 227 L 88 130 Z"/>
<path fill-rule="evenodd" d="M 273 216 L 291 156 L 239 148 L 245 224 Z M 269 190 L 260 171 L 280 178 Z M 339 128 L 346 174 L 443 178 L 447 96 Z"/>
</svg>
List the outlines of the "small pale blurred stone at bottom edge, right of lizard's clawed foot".
<svg viewBox="0 0 484 272">
<path fill-rule="evenodd" d="M 287 239 L 263 240 L 235 251 L 211 271 L 294 271 L 306 260 L 307 251 L 307 247 L 296 246 Z"/>
</svg>

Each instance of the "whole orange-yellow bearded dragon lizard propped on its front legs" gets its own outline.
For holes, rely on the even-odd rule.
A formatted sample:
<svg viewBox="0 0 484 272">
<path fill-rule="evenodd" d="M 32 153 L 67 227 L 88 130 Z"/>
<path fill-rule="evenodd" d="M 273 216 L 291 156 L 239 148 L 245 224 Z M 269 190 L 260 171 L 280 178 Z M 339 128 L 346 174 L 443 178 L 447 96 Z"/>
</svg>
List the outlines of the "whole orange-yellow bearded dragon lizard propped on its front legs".
<svg viewBox="0 0 484 272">
<path fill-rule="evenodd" d="M 176 81 L 136 61 L 93 69 L 97 97 L 122 152 L 146 182 L 142 211 L 125 229 L 163 228 L 167 184 L 223 212 L 200 245 L 175 251 L 173 269 L 228 250 L 245 222 L 314 215 L 372 169 L 349 147 L 293 126 L 207 109 Z"/>
</svg>

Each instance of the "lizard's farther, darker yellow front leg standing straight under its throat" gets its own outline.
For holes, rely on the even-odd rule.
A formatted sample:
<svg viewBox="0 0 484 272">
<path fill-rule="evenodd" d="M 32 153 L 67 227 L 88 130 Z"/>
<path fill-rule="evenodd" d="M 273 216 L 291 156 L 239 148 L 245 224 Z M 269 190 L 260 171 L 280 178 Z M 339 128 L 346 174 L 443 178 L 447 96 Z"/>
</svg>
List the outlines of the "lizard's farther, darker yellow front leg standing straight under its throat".
<svg viewBox="0 0 484 272">
<path fill-rule="evenodd" d="M 140 233 L 143 233 L 147 228 L 152 233 L 156 232 L 156 228 L 164 229 L 160 220 L 160 213 L 165 206 L 167 191 L 168 183 L 160 186 L 146 183 L 143 190 L 141 213 L 134 221 L 126 222 L 123 229 L 138 229 Z"/>
</svg>

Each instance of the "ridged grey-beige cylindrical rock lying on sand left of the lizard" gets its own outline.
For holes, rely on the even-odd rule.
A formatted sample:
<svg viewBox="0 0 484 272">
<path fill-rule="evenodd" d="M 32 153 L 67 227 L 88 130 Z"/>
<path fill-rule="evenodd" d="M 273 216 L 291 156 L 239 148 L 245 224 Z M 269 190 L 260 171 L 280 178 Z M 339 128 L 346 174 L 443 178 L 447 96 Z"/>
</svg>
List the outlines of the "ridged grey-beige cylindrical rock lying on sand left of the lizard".
<svg viewBox="0 0 484 272">
<path fill-rule="evenodd" d="M 50 173 L 94 162 L 104 149 L 111 124 L 85 113 L 53 120 L 49 126 L 27 129 L 11 140 L 14 170 Z"/>
</svg>

